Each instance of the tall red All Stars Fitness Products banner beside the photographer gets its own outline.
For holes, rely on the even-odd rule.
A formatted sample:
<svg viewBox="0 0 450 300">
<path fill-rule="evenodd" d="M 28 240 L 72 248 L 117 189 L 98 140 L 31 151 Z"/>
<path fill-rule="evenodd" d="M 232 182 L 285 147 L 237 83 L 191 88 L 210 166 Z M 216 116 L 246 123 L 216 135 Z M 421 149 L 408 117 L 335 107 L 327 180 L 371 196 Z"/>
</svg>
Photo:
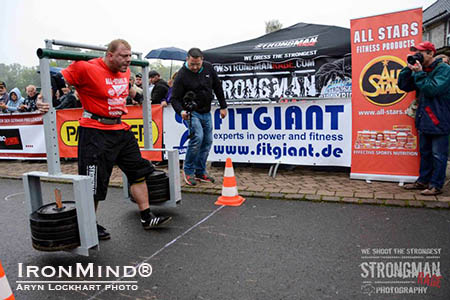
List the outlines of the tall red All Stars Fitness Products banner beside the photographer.
<svg viewBox="0 0 450 300">
<path fill-rule="evenodd" d="M 352 166 L 350 178 L 414 181 L 419 143 L 407 108 L 414 93 L 397 85 L 411 46 L 422 39 L 422 9 L 351 20 Z"/>
</svg>

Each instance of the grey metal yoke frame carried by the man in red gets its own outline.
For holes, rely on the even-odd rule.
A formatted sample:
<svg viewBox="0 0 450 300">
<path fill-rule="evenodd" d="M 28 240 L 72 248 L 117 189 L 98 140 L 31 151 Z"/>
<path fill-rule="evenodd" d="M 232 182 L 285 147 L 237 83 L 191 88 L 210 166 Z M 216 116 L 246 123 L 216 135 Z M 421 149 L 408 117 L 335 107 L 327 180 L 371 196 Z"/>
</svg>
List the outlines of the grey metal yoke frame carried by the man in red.
<svg viewBox="0 0 450 300">
<path fill-rule="evenodd" d="M 28 213 L 32 214 L 43 205 L 41 178 L 71 181 L 74 191 L 74 200 L 77 209 L 78 229 L 80 232 L 80 246 L 69 250 L 74 254 L 89 256 L 89 250 L 99 250 L 96 215 L 94 209 L 94 196 L 92 179 L 89 176 L 70 175 L 61 173 L 58 133 L 56 127 L 56 110 L 52 105 L 50 59 L 89 60 L 100 57 L 92 53 L 76 51 L 53 50 L 53 45 L 78 47 L 90 50 L 106 51 L 106 47 L 72 43 L 60 40 L 45 40 L 45 48 L 37 51 L 39 57 L 39 70 L 41 77 L 41 93 L 43 101 L 50 105 L 48 113 L 43 115 L 45 146 L 47 151 L 48 172 L 28 172 L 22 175 L 25 200 Z M 132 59 L 131 65 L 143 68 L 144 78 L 148 78 L 149 63 L 142 60 L 142 53 L 132 52 L 137 59 Z M 148 80 L 143 80 L 143 122 L 144 122 L 144 150 L 165 151 L 169 158 L 170 200 L 161 203 L 161 206 L 176 207 L 181 201 L 180 172 L 178 152 L 176 150 L 152 149 L 152 111 L 149 99 Z M 124 175 L 124 189 L 127 187 Z M 128 189 L 127 189 L 128 193 Z"/>
</svg>

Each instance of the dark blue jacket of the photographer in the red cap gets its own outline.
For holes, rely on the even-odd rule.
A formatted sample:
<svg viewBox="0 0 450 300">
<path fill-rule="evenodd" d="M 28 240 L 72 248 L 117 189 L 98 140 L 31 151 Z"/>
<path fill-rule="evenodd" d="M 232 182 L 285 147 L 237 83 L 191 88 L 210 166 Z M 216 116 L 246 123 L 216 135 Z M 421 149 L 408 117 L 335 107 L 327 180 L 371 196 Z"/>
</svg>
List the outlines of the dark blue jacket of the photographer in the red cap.
<svg viewBox="0 0 450 300">
<path fill-rule="evenodd" d="M 426 134 L 450 134 L 450 66 L 435 60 L 429 72 L 405 67 L 398 78 L 405 92 L 416 91 L 416 128 Z"/>
</svg>

